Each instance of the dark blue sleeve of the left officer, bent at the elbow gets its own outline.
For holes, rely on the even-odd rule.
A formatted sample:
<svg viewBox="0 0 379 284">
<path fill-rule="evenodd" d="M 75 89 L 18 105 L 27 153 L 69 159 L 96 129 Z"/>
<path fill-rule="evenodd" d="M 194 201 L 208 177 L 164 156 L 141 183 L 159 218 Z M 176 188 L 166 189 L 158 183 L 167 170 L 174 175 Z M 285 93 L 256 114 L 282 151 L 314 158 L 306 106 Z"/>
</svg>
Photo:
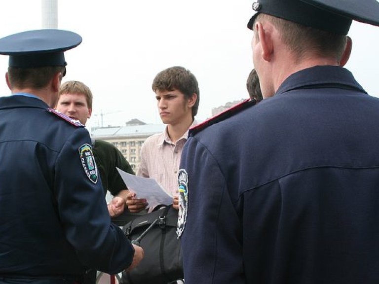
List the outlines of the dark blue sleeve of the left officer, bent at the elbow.
<svg viewBox="0 0 379 284">
<path fill-rule="evenodd" d="M 83 166 L 85 157 L 79 148 L 90 144 L 87 130 L 76 129 L 57 157 L 54 190 L 58 213 L 66 238 L 83 265 L 115 274 L 131 264 L 134 249 L 111 223 L 99 175 L 87 175 L 88 166 Z"/>
</svg>

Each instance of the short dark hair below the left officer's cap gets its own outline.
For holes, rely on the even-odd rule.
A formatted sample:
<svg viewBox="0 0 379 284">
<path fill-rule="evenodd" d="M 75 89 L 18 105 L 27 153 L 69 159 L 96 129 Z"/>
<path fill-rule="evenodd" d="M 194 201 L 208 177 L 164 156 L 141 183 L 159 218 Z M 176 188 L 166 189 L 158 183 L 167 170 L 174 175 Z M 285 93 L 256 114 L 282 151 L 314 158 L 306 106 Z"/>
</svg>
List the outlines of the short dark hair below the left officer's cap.
<svg viewBox="0 0 379 284">
<path fill-rule="evenodd" d="M 64 66 L 38 68 L 8 67 L 8 79 L 11 88 L 41 89 L 47 86 L 55 74 L 65 71 Z"/>
</svg>

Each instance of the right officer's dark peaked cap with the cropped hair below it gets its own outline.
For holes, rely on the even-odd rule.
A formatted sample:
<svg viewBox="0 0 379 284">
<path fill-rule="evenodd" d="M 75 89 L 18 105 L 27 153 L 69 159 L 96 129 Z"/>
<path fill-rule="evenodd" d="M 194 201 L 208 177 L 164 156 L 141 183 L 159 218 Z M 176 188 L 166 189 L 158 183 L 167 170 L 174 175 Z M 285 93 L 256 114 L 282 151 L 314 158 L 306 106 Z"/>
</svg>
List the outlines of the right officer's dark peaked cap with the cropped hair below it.
<svg viewBox="0 0 379 284">
<path fill-rule="evenodd" d="M 353 20 L 379 26 L 378 0 L 255 0 L 253 10 L 248 28 L 271 21 L 298 60 L 311 54 L 340 62 Z"/>
</svg>

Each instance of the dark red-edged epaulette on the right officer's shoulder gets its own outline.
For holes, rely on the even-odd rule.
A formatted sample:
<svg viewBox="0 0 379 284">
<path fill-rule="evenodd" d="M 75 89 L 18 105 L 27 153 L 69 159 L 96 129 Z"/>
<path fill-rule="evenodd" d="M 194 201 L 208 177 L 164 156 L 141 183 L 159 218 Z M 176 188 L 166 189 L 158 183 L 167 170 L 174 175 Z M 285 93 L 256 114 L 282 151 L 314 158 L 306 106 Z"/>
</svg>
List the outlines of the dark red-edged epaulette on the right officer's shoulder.
<svg viewBox="0 0 379 284">
<path fill-rule="evenodd" d="M 191 127 L 189 129 L 189 136 L 193 136 L 196 133 L 200 132 L 201 130 L 207 128 L 208 126 L 211 126 L 211 125 L 216 124 L 220 121 L 223 121 L 223 120 L 233 116 L 234 114 L 240 112 L 241 110 L 243 110 L 245 108 L 248 108 L 250 106 L 254 106 L 255 104 L 257 104 L 256 100 L 246 99 L 239 104 L 236 104 L 232 107 L 229 107 L 228 109 L 224 110 L 223 112 L 220 112 L 219 114 L 217 114 L 217 115 L 215 115 L 215 116 L 213 116 L 213 117 Z"/>
</svg>

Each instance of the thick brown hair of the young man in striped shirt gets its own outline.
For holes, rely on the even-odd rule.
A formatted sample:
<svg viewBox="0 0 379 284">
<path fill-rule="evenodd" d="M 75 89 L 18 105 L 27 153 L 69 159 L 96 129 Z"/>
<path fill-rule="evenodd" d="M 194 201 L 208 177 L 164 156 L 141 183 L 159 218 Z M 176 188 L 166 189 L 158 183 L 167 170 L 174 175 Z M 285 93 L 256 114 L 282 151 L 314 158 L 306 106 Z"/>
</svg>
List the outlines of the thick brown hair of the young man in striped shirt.
<svg viewBox="0 0 379 284">
<path fill-rule="evenodd" d="M 187 99 L 195 93 L 197 100 L 192 106 L 192 117 L 195 117 L 199 108 L 200 93 L 195 75 L 181 66 L 174 66 L 160 71 L 152 82 L 152 90 L 173 91 L 179 90 Z"/>
</svg>

